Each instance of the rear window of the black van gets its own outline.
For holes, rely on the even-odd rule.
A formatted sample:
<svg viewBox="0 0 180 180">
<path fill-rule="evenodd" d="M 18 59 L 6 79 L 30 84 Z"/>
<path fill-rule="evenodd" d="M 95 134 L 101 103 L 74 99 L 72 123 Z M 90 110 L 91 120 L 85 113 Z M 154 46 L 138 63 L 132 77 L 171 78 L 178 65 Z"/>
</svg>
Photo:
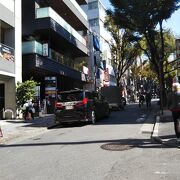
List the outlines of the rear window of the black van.
<svg viewBox="0 0 180 180">
<path fill-rule="evenodd" d="M 60 93 L 58 95 L 58 99 L 61 102 L 82 101 L 83 100 L 83 92 Z"/>
</svg>

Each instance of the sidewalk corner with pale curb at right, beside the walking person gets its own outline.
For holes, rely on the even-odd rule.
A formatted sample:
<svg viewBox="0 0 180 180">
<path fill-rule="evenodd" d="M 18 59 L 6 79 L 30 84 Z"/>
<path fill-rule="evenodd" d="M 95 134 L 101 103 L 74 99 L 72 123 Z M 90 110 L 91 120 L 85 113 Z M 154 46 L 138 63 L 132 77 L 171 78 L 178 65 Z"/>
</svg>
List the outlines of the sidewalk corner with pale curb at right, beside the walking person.
<svg viewBox="0 0 180 180">
<path fill-rule="evenodd" d="M 164 145 L 180 148 L 170 110 L 163 110 L 163 115 L 161 115 L 161 112 L 157 114 L 152 138 Z"/>
</svg>

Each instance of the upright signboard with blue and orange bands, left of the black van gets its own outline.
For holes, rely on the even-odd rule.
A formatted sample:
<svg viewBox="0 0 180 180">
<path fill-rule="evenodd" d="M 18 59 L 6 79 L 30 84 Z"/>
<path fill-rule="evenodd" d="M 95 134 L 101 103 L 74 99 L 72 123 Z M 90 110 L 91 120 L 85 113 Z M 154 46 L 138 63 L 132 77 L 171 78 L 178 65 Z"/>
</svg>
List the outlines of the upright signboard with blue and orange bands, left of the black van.
<svg viewBox="0 0 180 180">
<path fill-rule="evenodd" d="M 57 78 L 45 77 L 45 96 L 56 98 L 57 97 Z"/>
</svg>

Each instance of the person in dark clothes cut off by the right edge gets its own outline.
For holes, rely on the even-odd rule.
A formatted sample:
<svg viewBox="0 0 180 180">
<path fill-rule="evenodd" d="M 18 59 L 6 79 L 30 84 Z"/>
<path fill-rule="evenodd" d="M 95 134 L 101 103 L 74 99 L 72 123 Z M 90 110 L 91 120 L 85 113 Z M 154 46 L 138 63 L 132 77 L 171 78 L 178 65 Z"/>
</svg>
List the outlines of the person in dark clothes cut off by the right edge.
<svg viewBox="0 0 180 180">
<path fill-rule="evenodd" d="M 179 118 L 180 118 L 180 84 L 173 83 L 172 92 L 168 95 L 167 100 L 168 109 L 172 112 L 172 118 L 174 121 L 174 130 L 178 142 L 180 142 L 180 127 L 179 127 Z"/>
</svg>

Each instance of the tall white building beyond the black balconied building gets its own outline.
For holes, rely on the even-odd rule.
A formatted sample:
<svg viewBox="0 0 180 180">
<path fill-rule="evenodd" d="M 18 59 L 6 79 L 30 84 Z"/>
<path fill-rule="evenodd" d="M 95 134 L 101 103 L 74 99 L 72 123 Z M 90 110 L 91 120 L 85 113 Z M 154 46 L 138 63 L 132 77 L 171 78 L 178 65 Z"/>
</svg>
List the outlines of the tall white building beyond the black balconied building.
<svg viewBox="0 0 180 180">
<path fill-rule="evenodd" d="M 90 71 L 94 68 L 94 55 L 96 60 L 106 62 L 106 70 L 98 69 L 97 87 L 104 85 L 116 85 L 115 73 L 111 66 L 111 53 L 109 43 L 111 41 L 110 33 L 104 27 L 104 21 L 106 16 L 106 8 L 102 4 L 101 0 L 89 0 L 88 4 L 82 7 L 86 12 L 89 20 L 90 32 L 97 36 L 100 44 L 100 53 L 97 51 L 90 52 Z M 90 38 L 92 39 L 92 38 Z M 92 40 L 90 43 L 90 49 L 92 49 Z M 98 57 L 99 55 L 99 57 Z M 92 68 L 93 67 L 93 68 Z M 109 76 L 107 76 L 107 73 Z"/>
</svg>

